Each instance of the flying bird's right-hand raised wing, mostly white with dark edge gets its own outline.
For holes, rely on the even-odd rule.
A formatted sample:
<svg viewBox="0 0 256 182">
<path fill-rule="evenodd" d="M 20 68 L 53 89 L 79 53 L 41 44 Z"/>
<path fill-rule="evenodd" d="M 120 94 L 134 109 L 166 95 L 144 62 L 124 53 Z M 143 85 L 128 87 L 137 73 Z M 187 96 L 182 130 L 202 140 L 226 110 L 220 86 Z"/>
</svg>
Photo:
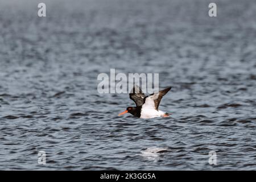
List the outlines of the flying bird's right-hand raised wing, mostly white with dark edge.
<svg viewBox="0 0 256 182">
<path fill-rule="evenodd" d="M 145 104 L 143 107 L 145 109 L 156 109 L 158 110 L 158 106 L 160 101 L 162 100 L 163 96 L 171 90 L 171 87 L 168 87 L 164 90 L 159 91 L 158 93 L 153 93 L 145 98 Z"/>
</svg>

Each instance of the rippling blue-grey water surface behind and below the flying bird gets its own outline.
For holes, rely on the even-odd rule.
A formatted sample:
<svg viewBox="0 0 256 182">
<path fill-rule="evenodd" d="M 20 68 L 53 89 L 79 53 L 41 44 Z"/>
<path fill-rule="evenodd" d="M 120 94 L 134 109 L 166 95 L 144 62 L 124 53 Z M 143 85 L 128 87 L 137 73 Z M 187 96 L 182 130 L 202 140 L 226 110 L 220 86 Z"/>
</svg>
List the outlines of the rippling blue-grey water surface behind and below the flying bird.
<svg viewBox="0 0 256 182">
<path fill-rule="evenodd" d="M 0 169 L 256 169 L 255 1 L 39 2 L 0 1 Z M 171 117 L 118 117 L 110 68 L 159 73 Z"/>
</svg>

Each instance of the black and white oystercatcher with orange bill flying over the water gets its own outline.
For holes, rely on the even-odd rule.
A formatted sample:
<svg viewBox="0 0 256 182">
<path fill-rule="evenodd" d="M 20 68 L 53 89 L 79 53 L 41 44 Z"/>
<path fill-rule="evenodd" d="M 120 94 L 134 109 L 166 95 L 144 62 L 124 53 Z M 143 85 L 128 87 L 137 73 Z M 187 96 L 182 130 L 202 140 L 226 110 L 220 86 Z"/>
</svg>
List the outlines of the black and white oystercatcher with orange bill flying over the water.
<svg viewBox="0 0 256 182">
<path fill-rule="evenodd" d="M 126 111 L 123 111 L 118 115 L 131 113 L 136 117 L 143 119 L 155 117 L 168 117 L 170 114 L 158 110 L 158 106 L 160 104 L 162 97 L 169 90 L 171 90 L 171 87 L 161 90 L 158 93 L 152 93 L 149 96 L 145 96 L 141 88 L 138 85 L 135 85 L 129 95 L 130 99 L 135 102 L 136 107 L 127 107 Z"/>
</svg>

